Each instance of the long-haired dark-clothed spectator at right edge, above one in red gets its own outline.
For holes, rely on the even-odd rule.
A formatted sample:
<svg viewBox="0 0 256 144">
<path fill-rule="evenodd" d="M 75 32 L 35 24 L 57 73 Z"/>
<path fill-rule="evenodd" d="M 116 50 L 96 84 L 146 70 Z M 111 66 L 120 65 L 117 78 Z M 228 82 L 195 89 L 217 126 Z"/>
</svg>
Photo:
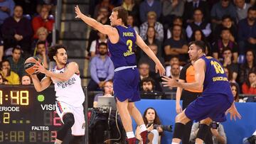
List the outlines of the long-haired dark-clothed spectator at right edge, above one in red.
<svg viewBox="0 0 256 144">
<path fill-rule="evenodd" d="M 252 50 L 247 50 L 245 63 L 240 65 L 240 69 L 239 69 L 240 84 L 245 82 L 245 80 L 249 76 L 250 71 L 256 72 L 255 52 L 253 52 Z"/>
</svg>

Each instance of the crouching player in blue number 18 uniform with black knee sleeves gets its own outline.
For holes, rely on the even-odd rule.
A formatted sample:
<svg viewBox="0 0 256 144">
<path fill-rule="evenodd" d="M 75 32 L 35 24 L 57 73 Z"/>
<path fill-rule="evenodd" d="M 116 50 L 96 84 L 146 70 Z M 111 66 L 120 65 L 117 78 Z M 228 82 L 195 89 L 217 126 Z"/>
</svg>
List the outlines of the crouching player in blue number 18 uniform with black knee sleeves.
<svg viewBox="0 0 256 144">
<path fill-rule="evenodd" d="M 188 107 L 176 116 L 174 138 L 172 144 L 181 142 L 185 124 L 188 121 L 200 121 L 201 125 L 196 137 L 196 144 L 203 143 L 207 131 L 210 129 L 210 122 L 226 121 L 225 112 L 230 112 L 230 119 L 241 118 L 235 108 L 233 94 L 231 92 L 228 78 L 218 60 L 213 57 L 206 57 L 206 45 L 203 41 L 194 41 L 189 44 L 188 55 L 194 61 L 195 82 L 182 83 L 176 79 L 163 77 L 164 87 L 181 87 L 203 93 Z"/>
</svg>

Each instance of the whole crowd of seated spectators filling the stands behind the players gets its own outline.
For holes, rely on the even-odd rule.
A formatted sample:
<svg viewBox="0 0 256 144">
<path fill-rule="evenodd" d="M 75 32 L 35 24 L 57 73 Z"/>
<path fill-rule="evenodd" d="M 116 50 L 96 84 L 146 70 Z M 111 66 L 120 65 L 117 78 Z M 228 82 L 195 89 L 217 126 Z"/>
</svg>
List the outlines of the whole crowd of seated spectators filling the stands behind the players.
<svg viewBox="0 0 256 144">
<path fill-rule="evenodd" d="M 0 1 L 0 73 L 6 84 L 20 84 L 26 74 L 23 62 L 39 57 L 51 67 L 53 11 L 56 1 Z M 253 0 L 98 0 L 90 1 L 90 15 L 110 24 L 114 6 L 129 13 L 132 26 L 166 67 L 166 75 L 178 79 L 188 58 L 188 43 L 203 40 L 208 55 L 222 62 L 228 79 L 238 84 L 240 94 L 256 94 L 256 4 Z M 31 6 L 33 7 L 31 9 Z M 114 77 L 107 50 L 107 35 L 90 31 L 87 51 L 90 58 L 90 91 L 101 90 Z M 154 62 L 139 48 L 135 50 L 141 80 L 151 77 L 157 92 L 176 92 L 161 86 Z M 241 89 L 241 90 L 239 90 Z"/>
</svg>

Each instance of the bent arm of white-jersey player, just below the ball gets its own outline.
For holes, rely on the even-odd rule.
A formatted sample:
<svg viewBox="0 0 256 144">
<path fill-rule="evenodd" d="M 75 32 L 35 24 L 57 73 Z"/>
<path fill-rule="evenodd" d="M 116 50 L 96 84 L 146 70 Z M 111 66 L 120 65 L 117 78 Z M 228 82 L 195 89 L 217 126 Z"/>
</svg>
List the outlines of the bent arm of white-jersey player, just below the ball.
<svg viewBox="0 0 256 144">
<path fill-rule="evenodd" d="M 31 74 L 31 78 L 32 78 L 32 81 L 33 81 L 33 85 L 36 89 L 36 92 L 41 92 L 41 91 L 43 91 L 44 89 L 46 89 L 47 87 L 50 86 L 50 82 L 51 82 L 50 77 L 44 77 L 41 80 L 41 82 L 39 81 L 36 74 Z"/>
</svg>

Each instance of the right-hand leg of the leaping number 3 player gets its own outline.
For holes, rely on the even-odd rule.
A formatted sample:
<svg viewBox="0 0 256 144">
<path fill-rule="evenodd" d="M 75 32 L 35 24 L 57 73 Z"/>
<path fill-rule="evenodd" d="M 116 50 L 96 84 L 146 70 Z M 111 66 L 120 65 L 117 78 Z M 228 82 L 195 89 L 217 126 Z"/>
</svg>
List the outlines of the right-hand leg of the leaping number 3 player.
<svg viewBox="0 0 256 144">
<path fill-rule="evenodd" d="M 137 107 L 134 105 L 134 102 L 128 103 L 128 111 L 130 115 L 134 118 L 135 122 L 137 123 L 137 126 L 139 126 L 139 129 L 141 131 L 140 135 L 142 136 L 143 143 L 146 143 L 146 137 L 147 137 L 147 129 L 144 124 L 142 114 L 139 112 Z"/>
</svg>

